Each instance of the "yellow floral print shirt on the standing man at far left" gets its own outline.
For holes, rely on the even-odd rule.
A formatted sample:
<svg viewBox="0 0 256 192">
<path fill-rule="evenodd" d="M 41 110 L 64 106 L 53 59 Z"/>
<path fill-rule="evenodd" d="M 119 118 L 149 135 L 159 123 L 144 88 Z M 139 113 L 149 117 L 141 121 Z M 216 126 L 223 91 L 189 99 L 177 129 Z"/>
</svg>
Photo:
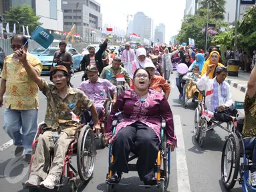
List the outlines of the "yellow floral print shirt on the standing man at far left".
<svg viewBox="0 0 256 192">
<path fill-rule="evenodd" d="M 27 53 L 27 61 L 40 75 L 43 66 L 38 57 Z M 38 109 L 37 84 L 28 77 L 23 64 L 13 60 L 13 54 L 5 57 L 1 77 L 6 80 L 5 101 L 3 103 L 5 108 L 31 110 L 36 107 Z"/>
</svg>

